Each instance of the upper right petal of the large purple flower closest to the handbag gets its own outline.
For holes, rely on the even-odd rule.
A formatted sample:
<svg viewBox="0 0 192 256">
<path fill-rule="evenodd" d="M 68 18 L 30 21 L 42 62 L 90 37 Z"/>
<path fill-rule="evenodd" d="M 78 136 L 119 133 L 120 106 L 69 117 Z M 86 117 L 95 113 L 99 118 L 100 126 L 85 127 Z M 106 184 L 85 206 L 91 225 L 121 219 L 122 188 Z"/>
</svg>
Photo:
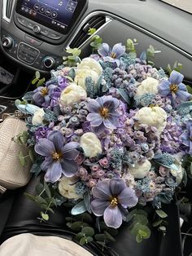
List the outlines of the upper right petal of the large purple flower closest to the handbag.
<svg viewBox="0 0 192 256">
<path fill-rule="evenodd" d="M 63 147 L 63 158 L 68 160 L 75 160 L 79 156 L 80 152 L 76 149 L 79 147 L 79 143 L 70 142 Z"/>
</svg>

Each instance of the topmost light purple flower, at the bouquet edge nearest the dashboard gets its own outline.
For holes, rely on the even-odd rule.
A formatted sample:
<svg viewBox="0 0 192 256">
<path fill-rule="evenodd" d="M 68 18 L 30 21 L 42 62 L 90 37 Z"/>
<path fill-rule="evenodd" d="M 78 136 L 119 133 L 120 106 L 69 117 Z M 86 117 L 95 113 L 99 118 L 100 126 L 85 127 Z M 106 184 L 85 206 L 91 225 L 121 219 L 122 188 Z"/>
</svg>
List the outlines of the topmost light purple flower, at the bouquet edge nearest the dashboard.
<svg viewBox="0 0 192 256">
<path fill-rule="evenodd" d="M 98 49 L 99 55 L 103 56 L 104 61 L 109 61 L 112 63 L 116 63 L 117 66 L 120 65 L 120 56 L 124 55 L 125 46 L 122 46 L 121 43 L 116 43 L 113 46 L 112 50 L 107 43 L 103 43 L 102 46 Z"/>
</svg>

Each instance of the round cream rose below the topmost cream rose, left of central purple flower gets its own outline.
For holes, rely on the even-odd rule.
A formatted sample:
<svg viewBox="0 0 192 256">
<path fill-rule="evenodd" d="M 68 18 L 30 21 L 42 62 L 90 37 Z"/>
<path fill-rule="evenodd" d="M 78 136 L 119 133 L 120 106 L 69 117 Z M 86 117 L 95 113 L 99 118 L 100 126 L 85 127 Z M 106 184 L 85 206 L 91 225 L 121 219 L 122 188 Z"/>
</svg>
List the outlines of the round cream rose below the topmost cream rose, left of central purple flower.
<svg viewBox="0 0 192 256">
<path fill-rule="evenodd" d="M 81 86 L 77 86 L 75 82 L 71 82 L 60 95 L 60 104 L 63 107 L 71 106 L 74 103 L 81 102 L 86 97 L 86 91 Z"/>
</svg>

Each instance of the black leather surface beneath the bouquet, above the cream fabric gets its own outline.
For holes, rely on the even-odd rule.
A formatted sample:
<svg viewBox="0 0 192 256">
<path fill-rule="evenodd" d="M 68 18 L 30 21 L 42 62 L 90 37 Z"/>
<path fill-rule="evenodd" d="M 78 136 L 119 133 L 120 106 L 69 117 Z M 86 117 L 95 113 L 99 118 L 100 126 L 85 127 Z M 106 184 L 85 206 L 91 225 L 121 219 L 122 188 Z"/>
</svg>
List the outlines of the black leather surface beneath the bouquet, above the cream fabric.
<svg viewBox="0 0 192 256">
<path fill-rule="evenodd" d="M 33 201 L 29 201 L 23 192 L 34 192 L 36 179 L 32 179 L 28 186 L 20 189 L 15 195 L 15 201 L 12 205 L 11 213 L 7 224 L 2 232 L 1 243 L 11 236 L 20 233 L 30 232 L 41 236 L 61 236 L 72 239 L 72 232 L 68 230 L 65 224 L 65 217 L 68 210 L 60 207 L 56 214 L 50 217 L 48 223 L 39 223 L 39 209 Z M 120 229 L 116 236 L 116 242 L 110 245 L 111 249 L 104 252 L 94 243 L 86 247 L 92 254 L 100 256 L 120 255 L 120 256 L 181 256 L 181 241 L 178 225 L 177 207 L 168 205 L 166 211 L 169 213 L 168 234 L 162 237 L 159 232 L 152 231 L 151 238 L 137 244 L 134 237 L 129 233 L 126 225 Z M 0 212 L 0 215 L 5 213 Z M 0 216 L 0 219 L 2 217 Z"/>
</svg>

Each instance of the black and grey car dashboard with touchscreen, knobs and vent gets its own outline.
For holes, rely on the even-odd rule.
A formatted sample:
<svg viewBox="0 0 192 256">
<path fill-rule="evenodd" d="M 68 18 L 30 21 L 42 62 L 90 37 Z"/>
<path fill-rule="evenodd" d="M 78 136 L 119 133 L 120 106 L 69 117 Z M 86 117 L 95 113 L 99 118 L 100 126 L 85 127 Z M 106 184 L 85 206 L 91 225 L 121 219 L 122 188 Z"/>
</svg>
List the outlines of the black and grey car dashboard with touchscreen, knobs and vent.
<svg viewBox="0 0 192 256">
<path fill-rule="evenodd" d="M 137 38 L 137 51 L 149 45 L 161 51 L 155 63 L 179 61 L 191 81 L 191 15 L 159 0 L 2 0 L 1 50 L 25 71 L 50 69 L 63 63 L 68 47 L 90 51 L 89 28 L 111 46 Z M 172 17 L 170 19 L 170 17 Z M 182 26 L 181 26 L 182 24 Z"/>
</svg>

